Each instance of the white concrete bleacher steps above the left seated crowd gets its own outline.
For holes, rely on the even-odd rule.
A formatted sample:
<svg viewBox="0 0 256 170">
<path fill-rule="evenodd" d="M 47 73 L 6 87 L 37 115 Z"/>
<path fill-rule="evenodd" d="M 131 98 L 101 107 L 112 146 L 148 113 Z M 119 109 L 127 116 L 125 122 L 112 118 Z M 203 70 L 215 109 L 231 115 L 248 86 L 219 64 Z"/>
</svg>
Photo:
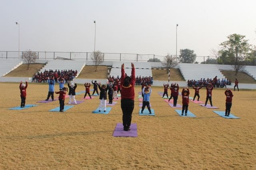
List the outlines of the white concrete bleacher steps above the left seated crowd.
<svg viewBox="0 0 256 170">
<path fill-rule="evenodd" d="M 44 70 L 77 70 L 77 76 L 80 74 L 85 66 L 85 61 L 75 61 L 75 60 L 48 60 L 47 64 L 39 71 L 44 72 Z"/>
</svg>

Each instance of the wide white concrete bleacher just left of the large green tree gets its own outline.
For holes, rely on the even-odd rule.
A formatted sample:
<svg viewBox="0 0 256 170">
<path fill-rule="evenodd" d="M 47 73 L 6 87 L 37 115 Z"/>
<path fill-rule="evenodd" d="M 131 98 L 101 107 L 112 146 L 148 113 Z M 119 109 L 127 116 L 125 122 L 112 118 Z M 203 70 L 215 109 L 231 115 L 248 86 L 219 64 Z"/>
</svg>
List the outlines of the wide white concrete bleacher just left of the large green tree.
<svg viewBox="0 0 256 170">
<path fill-rule="evenodd" d="M 214 78 L 215 76 L 220 78 L 220 80 L 225 78 L 218 67 L 214 64 L 179 63 L 178 68 L 180 68 L 180 72 L 186 81 L 200 80 L 201 78 Z"/>
</svg>

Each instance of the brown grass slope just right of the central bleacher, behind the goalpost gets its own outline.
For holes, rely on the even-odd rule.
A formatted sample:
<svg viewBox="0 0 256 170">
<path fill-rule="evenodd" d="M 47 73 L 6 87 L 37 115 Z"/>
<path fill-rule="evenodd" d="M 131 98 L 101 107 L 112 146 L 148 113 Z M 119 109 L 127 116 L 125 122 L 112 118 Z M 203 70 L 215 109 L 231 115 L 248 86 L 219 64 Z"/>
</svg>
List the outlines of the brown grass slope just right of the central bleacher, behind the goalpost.
<svg viewBox="0 0 256 170">
<path fill-rule="evenodd" d="M 154 80 L 166 81 L 168 80 L 168 74 L 166 70 L 152 70 L 152 76 Z M 170 69 L 170 80 L 171 81 L 186 81 L 182 76 L 180 69 L 171 68 Z"/>
</svg>

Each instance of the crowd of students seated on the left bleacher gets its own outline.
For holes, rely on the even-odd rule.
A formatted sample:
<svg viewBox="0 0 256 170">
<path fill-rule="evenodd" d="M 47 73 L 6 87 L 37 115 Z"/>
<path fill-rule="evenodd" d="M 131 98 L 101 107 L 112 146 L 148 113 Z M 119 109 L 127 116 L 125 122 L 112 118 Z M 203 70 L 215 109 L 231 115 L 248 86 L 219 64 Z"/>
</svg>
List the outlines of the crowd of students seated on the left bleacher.
<svg viewBox="0 0 256 170">
<path fill-rule="evenodd" d="M 77 75 L 77 70 L 44 70 L 44 72 L 38 72 L 32 77 L 32 82 L 47 83 L 48 77 L 53 78 L 55 82 L 63 79 L 65 83 L 73 80 Z"/>
</svg>

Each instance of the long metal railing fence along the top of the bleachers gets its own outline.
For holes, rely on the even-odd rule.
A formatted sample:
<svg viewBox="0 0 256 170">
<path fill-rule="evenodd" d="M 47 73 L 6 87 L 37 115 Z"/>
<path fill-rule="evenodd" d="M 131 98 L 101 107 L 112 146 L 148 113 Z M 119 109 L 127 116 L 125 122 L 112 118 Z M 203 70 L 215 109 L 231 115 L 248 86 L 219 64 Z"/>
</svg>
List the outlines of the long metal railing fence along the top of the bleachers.
<svg viewBox="0 0 256 170">
<path fill-rule="evenodd" d="M 20 51 L 20 59 L 23 58 L 23 53 L 26 51 Z M 58 58 L 67 60 L 86 60 L 91 61 L 91 52 L 48 52 L 48 51 L 33 51 L 37 53 L 38 59 L 55 60 Z M 148 62 L 163 62 L 165 56 L 154 54 L 129 54 L 129 53 L 102 53 L 104 61 L 148 61 Z M 175 55 L 171 55 L 174 56 Z M 182 63 L 188 63 L 190 56 L 186 56 L 187 60 L 183 60 Z M 186 58 L 185 57 L 185 58 Z M 0 58 L 2 59 L 18 59 L 18 51 L 0 51 Z M 179 58 L 179 55 L 177 56 Z M 180 61 L 179 61 L 180 62 Z M 180 62 L 181 63 L 181 62 Z M 196 56 L 195 63 L 202 64 L 220 64 L 217 61 L 217 57 L 212 56 Z M 256 59 L 252 58 L 250 61 L 246 61 L 246 65 L 256 65 Z"/>
</svg>

